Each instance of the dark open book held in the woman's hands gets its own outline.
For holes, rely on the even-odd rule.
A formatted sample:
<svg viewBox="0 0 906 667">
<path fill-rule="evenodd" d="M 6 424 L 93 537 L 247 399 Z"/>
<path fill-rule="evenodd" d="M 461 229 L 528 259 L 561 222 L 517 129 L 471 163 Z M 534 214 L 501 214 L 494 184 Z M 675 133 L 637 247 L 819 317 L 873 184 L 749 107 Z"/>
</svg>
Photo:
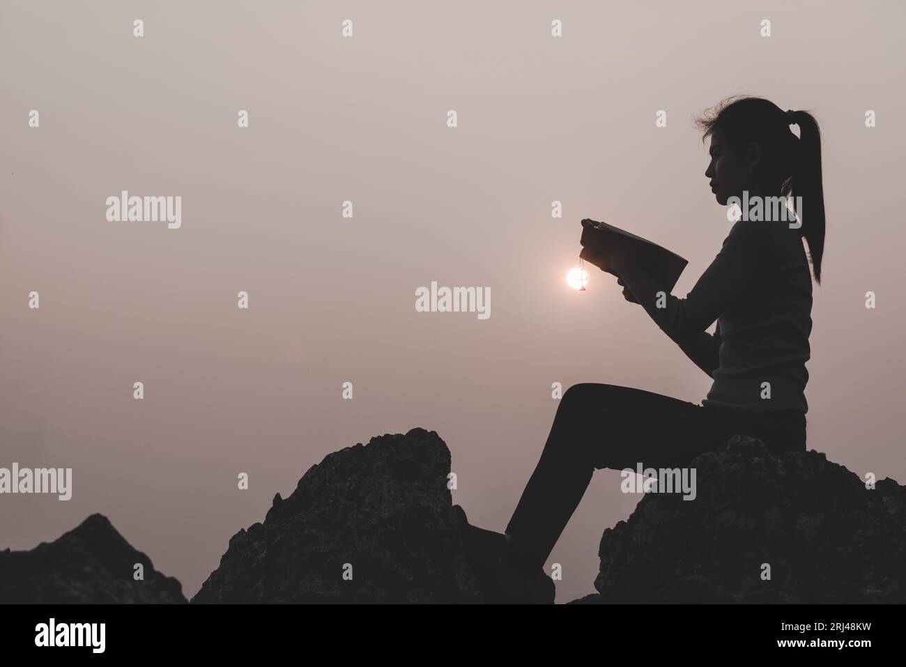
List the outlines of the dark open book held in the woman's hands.
<svg viewBox="0 0 906 667">
<path fill-rule="evenodd" d="M 637 237 L 606 222 L 585 218 L 582 221 L 582 252 L 579 256 L 586 262 L 610 272 L 610 257 L 622 254 L 636 264 L 645 266 L 652 275 L 663 280 L 664 288 L 670 293 L 679 280 L 679 275 L 689 262 L 676 253 Z"/>
</svg>

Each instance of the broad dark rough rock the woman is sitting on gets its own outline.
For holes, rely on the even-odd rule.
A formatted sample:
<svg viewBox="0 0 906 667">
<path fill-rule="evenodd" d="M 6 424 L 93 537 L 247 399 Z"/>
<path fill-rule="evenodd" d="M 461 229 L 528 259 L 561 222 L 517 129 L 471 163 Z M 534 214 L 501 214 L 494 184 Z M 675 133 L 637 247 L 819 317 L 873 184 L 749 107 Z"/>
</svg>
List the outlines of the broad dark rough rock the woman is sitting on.
<svg viewBox="0 0 906 667">
<path fill-rule="evenodd" d="M 695 459 L 697 498 L 647 494 L 604 530 L 589 603 L 906 602 L 906 488 L 817 451 L 731 439 Z M 770 565 L 763 580 L 762 564 Z"/>
</svg>

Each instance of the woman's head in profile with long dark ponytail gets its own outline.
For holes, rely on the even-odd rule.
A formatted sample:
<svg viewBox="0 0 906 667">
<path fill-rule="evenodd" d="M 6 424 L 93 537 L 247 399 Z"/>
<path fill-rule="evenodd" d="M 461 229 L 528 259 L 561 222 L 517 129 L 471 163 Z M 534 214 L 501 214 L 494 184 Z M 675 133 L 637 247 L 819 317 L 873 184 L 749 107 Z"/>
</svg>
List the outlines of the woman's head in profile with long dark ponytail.
<svg viewBox="0 0 906 667">
<path fill-rule="evenodd" d="M 808 243 L 814 279 L 821 282 L 824 254 L 824 192 L 821 182 L 821 132 L 807 111 L 783 111 L 757 97 L 733 97 L 698 119 L 703 140 L 710 139 L 705 176 L 718 203 L 731 197 L 802 199 L 800 232 Z M 799 137 L 790 125 L 799 126 Z"/>
</svg>

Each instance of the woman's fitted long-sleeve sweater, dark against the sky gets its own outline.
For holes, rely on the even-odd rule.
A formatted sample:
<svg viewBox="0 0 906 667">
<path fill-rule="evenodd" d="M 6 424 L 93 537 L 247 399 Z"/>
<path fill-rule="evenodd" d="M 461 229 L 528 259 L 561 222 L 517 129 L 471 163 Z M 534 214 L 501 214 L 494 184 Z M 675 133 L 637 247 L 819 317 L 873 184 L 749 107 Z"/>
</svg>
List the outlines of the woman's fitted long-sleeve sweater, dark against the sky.
<svg viewBox="0 0 906 667">
<path fill-rule="evenodd" d="M 706 407 L 808 411 L 812 275 L 798 229 L 740 220 L 686 298 L 641 304 L 713 378 Z"/>
</svg>

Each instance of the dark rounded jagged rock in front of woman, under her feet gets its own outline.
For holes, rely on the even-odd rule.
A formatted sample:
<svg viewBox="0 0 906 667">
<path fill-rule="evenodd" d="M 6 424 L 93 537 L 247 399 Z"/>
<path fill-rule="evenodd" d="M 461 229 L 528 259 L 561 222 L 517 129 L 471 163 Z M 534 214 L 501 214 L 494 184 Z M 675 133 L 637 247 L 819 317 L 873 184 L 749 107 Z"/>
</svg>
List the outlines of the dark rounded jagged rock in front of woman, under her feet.
<svg viewBox="0 0 906 667">
<path fill-rule="evenodd" d="M 230 539 L 192 603 L 484 602 L 449 471 L 433 430 L 328 454 Z"/>
</svg>

